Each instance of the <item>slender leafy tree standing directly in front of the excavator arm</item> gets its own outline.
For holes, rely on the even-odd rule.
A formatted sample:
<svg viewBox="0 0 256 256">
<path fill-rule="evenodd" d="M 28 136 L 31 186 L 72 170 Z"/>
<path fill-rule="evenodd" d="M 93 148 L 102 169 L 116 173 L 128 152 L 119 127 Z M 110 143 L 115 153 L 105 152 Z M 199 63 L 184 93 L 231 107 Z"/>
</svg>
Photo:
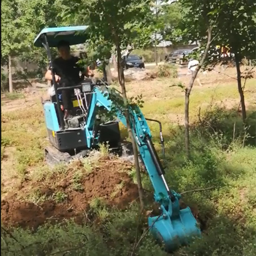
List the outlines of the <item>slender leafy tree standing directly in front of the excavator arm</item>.
<svg viewBox="0 0 256 256">
<path fill-rule="evenodd" d="M 123 101 L 125 106 L 125 117 L 127 121 L 127 130 L 132 142 L 134 161 L 137 174 L 137 182 L 141 207 L 143 208 L 143 190 L 141 184 L 140 167 L 138 160 L 138 149 L 136 142 L 132 136 L 132 129 L 129 118 L 129 103 L 126 95 L 124 80 L 124 62 L 122 59 L 122 49 L 131 46 L 129 52 L 134 45 L 140 44 L 142 41 L 144 46 L 146 42 L 151 42 L 151 25 L 150 17 L 150 0 L 94 0 L 84 2 L 77 0 L 72 2 L 72 8 L 65 15 L 78 13 L 79 19 L 83 24 L 89 25 L 89 38 L 92 41 L 100 40 L 108 46 L 115 46 L 117 52 L 117 68 L 118 81 L 122 88 Z M 81 7 L 83 6 L 83 7 Z M 75 9 L 75 10 L 74 10 Z M 83 20 L 81 9 L 86 10 L 88 16 Z M 143 38 L 143 40 L 141 40 Z M 145 40 L 147 39 L 147 40 Z M 103 53 L 104 55 L 105 53 Z M 106 56 L 102 56 L 106 58 Z"/>
</svg>

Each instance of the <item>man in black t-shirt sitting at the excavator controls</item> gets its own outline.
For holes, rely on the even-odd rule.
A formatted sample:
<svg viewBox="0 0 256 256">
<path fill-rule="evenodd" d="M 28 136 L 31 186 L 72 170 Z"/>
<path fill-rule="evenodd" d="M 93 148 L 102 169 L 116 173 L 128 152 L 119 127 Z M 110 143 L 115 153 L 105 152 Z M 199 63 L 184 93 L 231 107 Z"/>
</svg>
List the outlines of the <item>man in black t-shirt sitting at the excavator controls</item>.
<svg viewBox="0 0 256 256">
<path fill-rule="evenodd" d="M 58 52 L 60 57 L 56 58 L 53 61 L 53 71 L 55 73 L 55 81 L 59 84 L 60 87 L 68 87 L 74 86 L 80 83 L 84 76 L 89 77 L 93 75 L 93 72 L 88 68 L 85 69 L 78 65 L 78 61 L 80 58 L 74 57 L 70 54 L 70 45 L 69 42 L 61 40 L 58 45 Z M 80 76 L 80 72 L 82 76 Z M 51 70 L 48 69 L 45 73 L 45 79 L 52 81 L 52 73 Z M 64 120 L 69 119 L 71 114 L 71 94 L 73 93 L 73 89 L 62 90 L 61 97 L 63 102 L 64 109 Z M 56 93 L 56 97 L 57 93 Z"/>
</svg>

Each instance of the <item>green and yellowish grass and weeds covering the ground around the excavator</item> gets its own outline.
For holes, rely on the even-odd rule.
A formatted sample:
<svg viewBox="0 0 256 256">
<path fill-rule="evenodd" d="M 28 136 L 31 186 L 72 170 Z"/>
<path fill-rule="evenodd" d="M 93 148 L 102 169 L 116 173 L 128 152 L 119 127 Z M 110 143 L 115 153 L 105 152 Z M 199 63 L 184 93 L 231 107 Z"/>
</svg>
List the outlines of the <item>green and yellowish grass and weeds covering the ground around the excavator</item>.
<svg viewBox="0 0 256 256">
<path fill-rule="evenodd" d="M 255 86 L 252 80 L 246 83 L 245 99 L 248 120 L 246 129 L 240 115 L 237 115 L 239 95 L 235 82 L 213 84 L 202 88 L 194 87 L 190 99 L 191 159 L 185 158 L 184 130 L 174 123 L 171 114 L 183 114 L 184 94 L 179 88 L 169 87 L 177 79 L 156 79 L 151 82 L 129 83 L 129 95 L 143 93 L 146 117 L 162 121 L 166 141 L 166 180 L 175 191 L 182 193 L 198 188 L 209 190 L 183 194 L 183 201 L 198 213 L 203 236 L 189 247 L 182 247 L 174 256 L 254 256 L 256 250 L 256 158 L 255 158 Z M 182 81 L 184 82 L 184 81 Z M 227 108 L 221 101 L 231 102 L 235 108 Z M 251 103 L 252 102 L 252 103 Z M 210 107 L 209 107 L 210 105 Z M 201 116 L 198 119 L 198 109 Z M 3 120 L 6 122 L 3 123 Z M 154 143 L 160 153 L 159 128 L 149 123 Z M 14 129 L 15 128 L 15 129 Z M 122 130 L 123 134 L 126 134 Z M 17 114 L 2 113 L 1 151 L 16 148 L 13 156 L 2 159 L 13 161 L 12 168 L 30 179 L 44 180 L 45 175 L 66 176 L 65 165 L 47 171 L 41 152 L 47 143 L 44 138 L 41 107 L 35 106 L 29 112 Z M 101 146 L 101 156 L 108 154 L 108 148 Z M 1 152 L 2 157 L 2 152 Z M 81 178 L 88 175 L 97 157 L 84 159 L 84 170 L 72 169 L 73 189 L 81 189 Z M 70 167 L 71 168 L 71 167 Z M 4 170 L 8 172 L 9 170 Z M 30 174 L 31 171 L 31 174 Z M 130 176 L 136 181 L 135 172 Z M 10 178 L 10 177 L 9 177 Z M 122 189 L 121 182 L 113 195 Z M 147 175 L 143 175 L 143 187 L 152 190 Z M 153 190 L 152 190 L 153 194 Z M 63 192 L 54 196 L 58 202 L 66 200 Z M 31 192 L 29 200 L 39 204 L 43 198 L 39 191 Z M 80 226 L 72 220 L 65 225 L 46 224 L 32 233 L 29 230 L 13 229 L 12 236 L 3 234 L 1 250 L 4 255 L 49 255 L 68 250 L 70 255 L 131 255 L 131 248 L 146 230 L 146 217 L 140 216 L 139 206 L 132 203 L 125 211 L 109 208 L 100 198 L 91 200 L 92 215 L 97 221 Z M 152 204 L 146 203 L 146 209 Z M 95 218 L 94 218 L 95 219 Z M 138 238 L 137 238 L 138 236 Z M 17 242 L 18 241 L 18 242 Z M 38 245 L 40 244 L 40 246 Z M 62 253 L 65 253 L 62 252 Z M 167 255 L 147 234 L 138 245 L 134 255 Z M 60 255 L 60 253 L 59 253 Z"/>
</svg>

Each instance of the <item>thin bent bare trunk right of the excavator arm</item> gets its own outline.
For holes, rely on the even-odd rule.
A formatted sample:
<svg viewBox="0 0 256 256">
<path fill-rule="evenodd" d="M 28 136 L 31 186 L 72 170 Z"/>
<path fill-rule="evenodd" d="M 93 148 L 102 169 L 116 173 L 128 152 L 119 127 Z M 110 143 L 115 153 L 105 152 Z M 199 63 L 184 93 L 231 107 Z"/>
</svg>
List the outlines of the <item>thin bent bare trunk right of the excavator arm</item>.
<svg viewBox="0 0 256 256">
<path fill-rule="evenodd" d="M 189 139 L 189 96 L 190 96 L 190 92 L 191 89 L 193 87 L 193 84 L 195 82 L 196 76 L 198 74 L 198 71 L 200 70 L 200 68 L 203 65 L 204 60 L 207 57 L 209 48 L 210 48 L 210 44 L 211 44 L 211 37 L 212 37 L 212 27 L 208 27 L 208 39 L 207 39 L 207 45 L 204 51 L 204 54 L 196 68 L 196 70 L 193 72 L 192 71 L 192 76 L 191 79 L 189 81 L 188 87 L 186 87 L 185 89 L 185 151 L 186 151 L 186 156 L 187 159 L 190 158 L 190 139 Z"/>
</svg>

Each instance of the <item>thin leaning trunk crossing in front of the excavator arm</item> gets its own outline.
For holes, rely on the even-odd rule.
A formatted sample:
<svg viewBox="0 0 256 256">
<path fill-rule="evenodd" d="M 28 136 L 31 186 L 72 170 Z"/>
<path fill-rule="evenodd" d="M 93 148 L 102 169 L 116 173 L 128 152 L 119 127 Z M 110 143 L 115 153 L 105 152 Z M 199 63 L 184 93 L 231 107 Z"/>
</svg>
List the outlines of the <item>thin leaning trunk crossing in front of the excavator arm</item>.
<svg viewBox="0 0 256 256">
<path fill-rule="evenodd" d="M 143 209 L 143 207 L 144 207 L 143 189 L 142 189 L 142 182 L 141 182 L 138 149 L 137 149 L 137 145 L 136 145 L 135 139 L 132 134 L 131 124 L 130 124 L 130 119 L 129 119 L 129 112 L 128 112 L 128 108 L 127 108 L 128 102 L 127 102 L 127 96 L 126 96 L 125 77 L 124 77 L 124 69 L 123 69 L 123 65 L 122 65 L 121 50 L 120 50 L 119 45 L 117 45 L 116 48 L 117 48 L 118 80 L 119 80 L 119 84 L 122 88 L 122 95 L 123 95 L 123 99 L 124 99 L 124 104 L 126 106 L 125 117 L 126 117 L 126 123 L 127 123 L 127 131 L 128 131 L 131 143 L 132 143 L 132 149 L 133 149 L 133 154 L 134 154 L 134 163 L 135 163 L 135 169 L 136 169 L 136 178 L 137 178 L 139 197 L 140 197 L 140 205 L 141 205 L 141 209 Z"/>
</svg>

